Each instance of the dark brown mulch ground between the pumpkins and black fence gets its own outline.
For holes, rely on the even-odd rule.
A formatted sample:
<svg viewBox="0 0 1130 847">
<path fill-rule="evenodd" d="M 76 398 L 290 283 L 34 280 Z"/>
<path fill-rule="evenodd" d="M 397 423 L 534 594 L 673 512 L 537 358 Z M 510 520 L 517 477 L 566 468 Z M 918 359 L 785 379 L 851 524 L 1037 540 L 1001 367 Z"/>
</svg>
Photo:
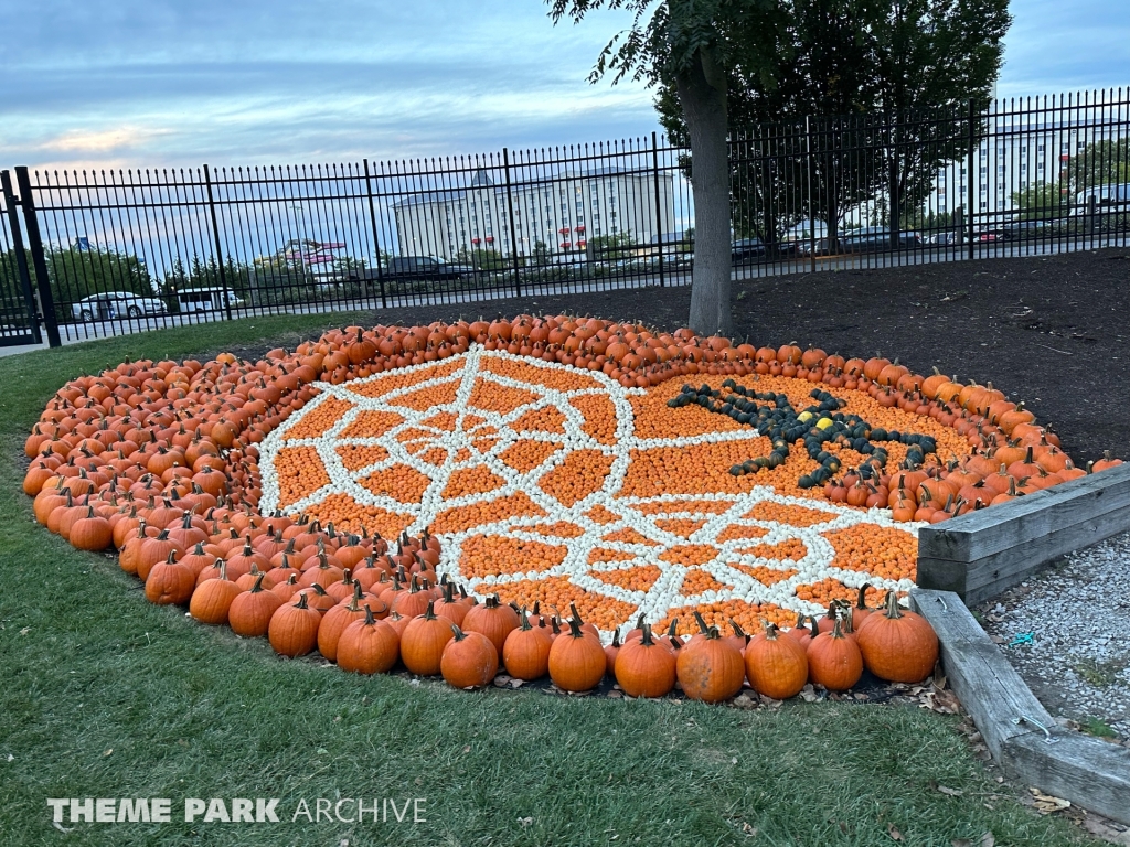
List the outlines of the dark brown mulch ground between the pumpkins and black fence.
<svg viewBox="0 0 1130 847">
<path fill-rule="evenodd" d="M 534 295 L 382 309 L 372 323 L 568 313 L 675 330 L 689 303 L 689 288 Z M 962 381 L 991 381 L 1054 428 L 1077 462 L 1105 449 L 1130 457 L 1125 248 L 765 277 L 736 282 L 732 307 L 741 340 L 796 341 L 849 357 L 881 352 L 919 373 L 938 367 Z"/>
</svg>

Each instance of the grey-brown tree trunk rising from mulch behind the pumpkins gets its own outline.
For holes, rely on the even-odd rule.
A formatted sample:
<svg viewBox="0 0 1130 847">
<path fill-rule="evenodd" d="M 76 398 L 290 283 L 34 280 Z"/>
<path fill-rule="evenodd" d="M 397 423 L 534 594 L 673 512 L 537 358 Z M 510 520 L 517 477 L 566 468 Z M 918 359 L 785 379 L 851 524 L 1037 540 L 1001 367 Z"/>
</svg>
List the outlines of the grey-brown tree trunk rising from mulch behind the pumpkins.
<svg viewBox="0 0 1130 847">
<path fill-rule="evenodd" d="M 695 264 L 690 287 L 690 329 L 729 335 L 730 161 L 727 145 L 727 78 L 709 53 L 676 78 L 690 136 L 690 189 L 695 201 Z"/>
</svg>

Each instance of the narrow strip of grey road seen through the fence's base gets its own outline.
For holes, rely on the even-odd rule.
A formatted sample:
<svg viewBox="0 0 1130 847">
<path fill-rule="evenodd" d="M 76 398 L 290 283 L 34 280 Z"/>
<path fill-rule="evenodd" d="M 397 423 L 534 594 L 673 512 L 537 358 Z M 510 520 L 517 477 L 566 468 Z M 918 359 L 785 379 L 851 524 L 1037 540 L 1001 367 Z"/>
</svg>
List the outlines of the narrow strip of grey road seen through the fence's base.
<svg viewBox="0 0 1130 847">
<path fill-rule="evenodd" d="M 1101 247 L 1127 246 L 1130 237 L 1118 235 L 1113 237 L 1095 237 L 1093 239 L 1076 238 L 1071 242 L 1025 242 L 997 244 L 979 243 L 975 248 L 976 259 L 1008 259 L 1014 256 L 1046 255 L 1077 250 L 1098 250 Z M 757 261 L 739 264 L 734 268 L 734 281 L 757 279 L 762 277 L 783 276 L 788 273 L 808 273 L 812 271 L 843 271 L 864 268 L 902 268 L 932 262 L 955 262 L 968 259 L 968 246 L 922 247 L 913 251 L 889 253 L 854 253 L 836 256 L 796 256 L 785 260 L 766 262 Z M 688 269 L 668 270 L 663 274 L 663 285 L 687 286 L 690 283 Z M 524 296 L 551 296 L 586 294 L 590 291 L 607 291 L 615 288 L 644 288 L 659 286 L 658 272 L 643 272 L 634 276 L 615 278 L 591 278 L 582 280 L 557 280 L 551 282 L 532 282 L 523 285 Z M 389 308 L 411 307 L 421 305 L 453 305 L 462 303 L 487 303 L 514 296 L 511 286 L 485 290 L 458 290 L 432 295 L 398 295 L 386 298 Z M 304 303 L 292 306 L 240 308 L 233 309 L 232 317 L 258 317 L 272 314 L 329 314 L 333 312 L 380 311 L 380 296 L 362 296 L 339 302 Z M 88 323 L 66 323 L 59 326 L 63 344 L 75 344 L 94 339 L 113 335 L 129 335 L 169 326 L 186 326 L 199 323 L 210 323 L 226 320 L 223 312 L 190 312 L 171 315 L 156 315 L 142 318 L 122 318 L 114 321 L 93 321 Z M 31 350 L 46 348 L 42 344 L 24 344 L 17 347 L 0 347 L 0 356 L 11 356 Z"/>
</svg>

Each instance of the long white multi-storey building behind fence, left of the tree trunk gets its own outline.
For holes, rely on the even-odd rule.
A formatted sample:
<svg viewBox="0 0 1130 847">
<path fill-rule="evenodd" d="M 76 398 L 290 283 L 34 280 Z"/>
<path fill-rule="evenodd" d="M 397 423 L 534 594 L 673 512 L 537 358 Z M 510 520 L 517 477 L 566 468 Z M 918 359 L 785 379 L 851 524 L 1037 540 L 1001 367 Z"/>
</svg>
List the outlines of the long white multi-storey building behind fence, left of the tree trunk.
<svg viewBox="0 0 1130 847">
<path fill-rule="evenodd" d="M 658 208 L 657 208 L 658 189 Z M 463 189 L 410 194 L 392 206 L 400 255 L 452 259 L 460 250 L 496 250 L 518 255 L 540 250 L 583 252 L 590 238 L 627 234 L 651 244 L 675 222 L 673 177 L 654 172 L 600 168 L 513 183 L 511 239 L 507 189 L 485 169 Z"/>
</svg>

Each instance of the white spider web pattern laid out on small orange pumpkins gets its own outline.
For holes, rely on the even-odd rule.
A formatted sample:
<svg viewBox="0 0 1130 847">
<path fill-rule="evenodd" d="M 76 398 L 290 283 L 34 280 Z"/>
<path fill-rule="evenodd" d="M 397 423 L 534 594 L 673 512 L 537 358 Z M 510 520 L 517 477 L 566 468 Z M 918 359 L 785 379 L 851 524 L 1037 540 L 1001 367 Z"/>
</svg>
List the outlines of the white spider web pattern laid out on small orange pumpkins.
<svg viewBox="0 0 1130 847">
<path fill-rule="evenodd" d="M 581 382 L 588 385 L 562 390 L 549 387 L 536 378 L 504 376 L 487 366 L 490 358 L 518 363 L 525 368 L 566 372 L 574 376 L 574 384 Z M 441 368 L 440 376 L 428 376 L 429 370 Z M 330 495 L 347 494 L 358 504 L 409 515 L 411 524 L 408 531 L 415 533 L 431 527 L 440 515 L 450 509 L 522 494 L 542 514 L 512 515 L 454 532 L 438 532 L 443 544 L 440 573 L 447 574 L 480 597 L 523 580 L 565 578 L 577 590 L 597 595 L 598 600 L 605 597 L 614 601 L 617 609 L 629 609 L 631 612 L 623 615 L 618 626 L 634 620 L 641 612 L 646 620 L 658 622 L 672 610 L 728 600 L 774 604 L 792 612 L 815 614 L 823 606 L 798 597 L 797 587 L 829 577 L 852 588 L 864 583 L 896 591 L 912 587 L 910 579 L 884 579 L 864 571 L 834 567 L 836 551 L 827 538 L 828 533 L 866 523 L 916 535 L 916 525 L 895 523 L 889 518 L 889 513 L 883 509 L 863 510 L 816 499 L 789 497 L 776 494 L 767 486 L 753 486 L 738 495 L 620 495 L 634 453 L 731 439 L 754 442 L 759 438 L 754 428 L 676 438 L 640 438 L 634 430 L 631 398 L 645 393 L 645 390 L 625 388 L 600 372 L 577 370 L 503 351 L 487 351 L 478 346 L 444 363 L 392 373 L 403 376 L 412 372 L 420 372 L 418 381 L 403 384 L 405 381 L 401 379 L 397 387 L 390 387 L 388 392 L 373 392 L 372 386 L 367 394 L 357 393 L 356 390 L 389 378 L 389 374 L 341 385 L 318 384 L 315 387 L 320 391 L 319 396 L 261 444 L 261 507 L 264 513 L 279 506 L 273 462 L 279 451 L 289 446 L 313 447 L 330 479 L 328 484 L 287 505 L 285 512 L 290 514 L 301 513 Z M 511 368 L 511 372 L 514 373 L 514 369 Z M 532 377 L 538 372 L 528 373 Z M 579 376 L 583 378 L 577 381 L 575 377 Z M 506 412 L 476 408 L 471 399 L 480 383 L 525 392 L 530 400 Z M 446 388 L 449 392 L 454 388 L 454 393 L 450 402 L 440 402 L 424 410 L 405 404 L 410 395 L 427 388 Z M 616 429 L 611 444 L 602 443 L 585 431 L 585 418 L 573 403 L 579 398 L 592 394 L 607 396 L 615 410 Z M 349 403 L 351 408 L 319 437 L 288 437 L 287 433 L 305 416 L 331 398 Z M 516 428 L 516 422 L 523 416 L 546 409 L 560 412 L 563 433 Z M 389 419 L 399 416 L 400 422 L 373 437 L 344 435 L 366 412 L 384 413 Z M 437 420 L 447 426 L 438 425 Z M 549 452 L 547 448 L 546 457 L 525 471 L 516 470 L 502 459 L 507 448 L 528 440 L 544 442 L 553 449 Z M 388 452 L 388 459 L 350 470 L 342 463 L 338 452 L 344 445 L 382 447 Z M 541 482 L 555 469 L 560 468 L 571 453 L 581 449 L 596 451 L 606 456 L 609 472 L 599 488 L 575 503 L 565 504 L 548 494 Z M 436 461 L 441 455 L 442 460 Z M 390 494 L 375 494 L 362 484 L 370 474 L 395 466 L 411 469 L 427 479 L 421 497 L 398 499 Z M 481 468 L 489 470 L 501 484 L 478 494 L 444 498 L 443 492 L 453 473 Z M 814 522 L 809 517 L 797 524 L 756 519 L 749 513 L 759 503 L 802 507 L 809 515 L 812 510 L 824 513 L 827 519 Z M 677 526 L 672 526 L 680 521 L 684 526 L 696 529 L 692 529 L 689 533 L 680 533 L 676 531 Z M 568 525 L 571 533 L 558 534 L 560 525 Z M 742 527 L 750 531 L 747 533 L 750 538 L 736 538 L 741 535 Z M 473 574 L 470 571 L 476 568 L 468 567 L 468 573 L 464 574 L 464 545 L 479 538 L 538 542 L 559 548 L 564 553 L 558 564 L 539 570 L 499 568 L 498 573 Z M 800 558 L 768 558 L 754 549 L 759 548 L 763 552 L 789 541 L 803 545 Z M 698 559 L 693 562 L 680 560 L 686 551 L 695 551 Z M 625 558 L 618 558 L 620 556 Z M 646 590 L 624 587 L 598 576 L 649 566 L 658 568 L 659 575 Z M 766 584 L 750 575 L 749 570 L 755 568 L 779 571 L 775 574 L 779 578 Z M 685 590 L 688 575 L 695 570 L 712 577 L 718 587 L 702 592 L 694 592 L 690 587 Z M 697 582 L 703 580 L 699 578 Z"/>
</svg>

